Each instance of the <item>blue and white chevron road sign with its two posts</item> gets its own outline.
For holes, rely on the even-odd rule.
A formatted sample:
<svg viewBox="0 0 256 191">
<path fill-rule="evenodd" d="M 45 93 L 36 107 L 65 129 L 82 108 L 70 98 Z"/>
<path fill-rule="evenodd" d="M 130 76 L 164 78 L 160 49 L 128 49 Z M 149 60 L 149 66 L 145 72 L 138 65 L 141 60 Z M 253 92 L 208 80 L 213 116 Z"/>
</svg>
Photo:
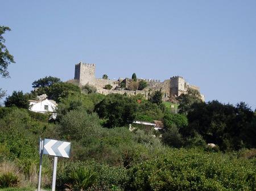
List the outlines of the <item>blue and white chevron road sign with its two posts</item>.
<svg viewBox="0 0 256 191">
<path fill-rule="evenodd" d="M 38 191 L 40 191 L 43 154 L 54 156 L 53 173 L 52 173 L 52 191 L 55 191 L 57 159 L 58 159 L 57 156 L 69 158 L 71 143 L 63 142 L 63 141 L 56 141 L 53 139 L 44 139 L 44 141 L 40 141 L 40 148 L 42 148 L 42 149 L 40 149 Z"/>
</svg>

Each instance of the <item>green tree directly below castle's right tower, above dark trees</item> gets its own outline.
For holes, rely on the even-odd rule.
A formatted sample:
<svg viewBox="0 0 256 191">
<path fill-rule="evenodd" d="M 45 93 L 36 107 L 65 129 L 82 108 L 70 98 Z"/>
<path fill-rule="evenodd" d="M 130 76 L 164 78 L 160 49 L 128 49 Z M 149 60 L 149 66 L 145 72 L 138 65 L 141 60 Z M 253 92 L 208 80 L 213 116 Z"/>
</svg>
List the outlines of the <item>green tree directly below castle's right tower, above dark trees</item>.
<svg viewBox="0 0 256 191">
<path fill-rule="evenodd" d="M 189 88 L 187 94 L 181 94 L 177 97 L 177 100 L 179 101 L 179 113 L 187 114 L 191 110 L 193 103 L 201 102 L 200 98 L 199 91 Z"/>
</svg>

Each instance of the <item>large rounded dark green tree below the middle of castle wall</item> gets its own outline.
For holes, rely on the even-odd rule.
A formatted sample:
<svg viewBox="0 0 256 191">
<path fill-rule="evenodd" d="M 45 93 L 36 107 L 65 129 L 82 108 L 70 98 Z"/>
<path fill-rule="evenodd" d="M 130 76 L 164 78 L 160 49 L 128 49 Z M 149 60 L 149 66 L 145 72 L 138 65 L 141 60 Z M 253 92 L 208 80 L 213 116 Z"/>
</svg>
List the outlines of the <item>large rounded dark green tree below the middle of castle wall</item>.
<svg viewBox="0 0 256 191">
<path fill-rule="evenodd" d="M 131 97 L 109 94 L 95 106 L 94 111 L 106 119 L 105 126 L 113 128 L 131 124 L 136 116 L 137 102 Z"/>
</svg>

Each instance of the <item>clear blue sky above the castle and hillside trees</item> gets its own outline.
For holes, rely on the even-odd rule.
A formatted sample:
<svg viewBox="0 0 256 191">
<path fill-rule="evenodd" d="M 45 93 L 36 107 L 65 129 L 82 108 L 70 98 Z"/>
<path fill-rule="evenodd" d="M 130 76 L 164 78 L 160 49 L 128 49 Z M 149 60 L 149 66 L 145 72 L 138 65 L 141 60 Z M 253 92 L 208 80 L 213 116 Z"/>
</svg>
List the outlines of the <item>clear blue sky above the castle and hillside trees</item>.
<svg viewBox="0 0 256 191">
<path fill-rule="evenodd" d="M 29 92 L 46 75 L 183 76 L 208 100 L 256 107 L 256 1 L 2 1 L 16 63 L 0 87 Z M 2 100 L 3 101 L 3 100 Z"/>
</svg>

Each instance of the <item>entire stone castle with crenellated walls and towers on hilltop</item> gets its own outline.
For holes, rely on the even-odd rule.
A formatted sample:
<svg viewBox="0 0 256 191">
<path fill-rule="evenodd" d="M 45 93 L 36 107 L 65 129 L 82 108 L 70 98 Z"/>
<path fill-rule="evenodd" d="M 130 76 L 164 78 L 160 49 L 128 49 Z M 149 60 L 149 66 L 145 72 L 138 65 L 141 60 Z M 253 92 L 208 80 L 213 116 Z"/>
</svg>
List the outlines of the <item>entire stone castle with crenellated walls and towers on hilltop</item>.
<svg viewBox="0 0 256 191">
<path fill-rule="evenodd" d="M 190 85 L 185 81 L 183 77 L 175 76 L 170 79 L 166 79 L 163 82 L 156 79 L 137 79 L 137 81 L 144 80 L 147 82 L 148 86 L 143 90 L 130 90 L 131 84 L 134 82 L 130 78 L 119 78 L 118 80 L 112 79 L 101 79 L 95 77 L 95 67 L 94 63 L 82 63 L 79 62 L 75 65 L 75 80 L 79 82 L 81 86 L 89 84 L 97 88 L 97 92 L 100 94 L 127 94 L 127 95 L 137 95 L 142 94 L 146 98 L 150 96 L 156 90 L 162 90 L 163 100 L 169 100 L 170 97 L 177 97 L 181 94 L 187 94 L 188 88 L 198 90 L 200 88 L 197 86 Z M 111 89 L 106 90 L 104 87 L 110 84 Z M 204 95 L 201 94 L 201 100 L 204 101 Z"/>
</svg>

